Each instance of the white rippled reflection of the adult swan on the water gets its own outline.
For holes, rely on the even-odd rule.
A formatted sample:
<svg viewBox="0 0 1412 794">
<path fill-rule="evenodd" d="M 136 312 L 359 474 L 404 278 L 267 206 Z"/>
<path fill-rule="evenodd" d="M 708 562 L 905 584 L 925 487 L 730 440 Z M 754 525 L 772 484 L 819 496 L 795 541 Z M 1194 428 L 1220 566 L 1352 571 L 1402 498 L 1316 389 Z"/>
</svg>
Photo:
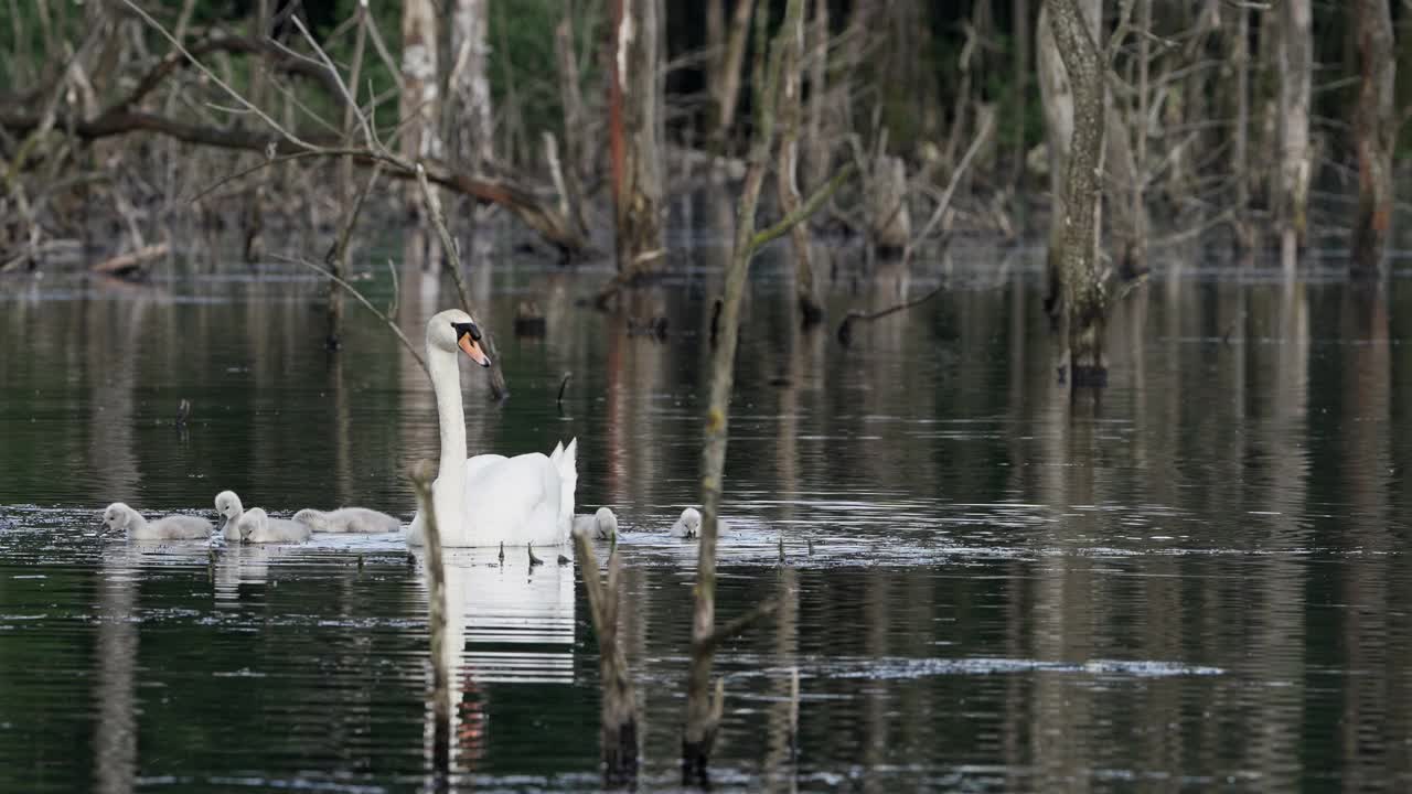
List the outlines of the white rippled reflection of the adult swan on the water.
<svg viewBox="0 0 1412 794">
<path fill-rule="evenodd" d="M 542 550 L 552 561 L 568 548 Z M 414 551 L 422 571 L 419 600 L 426 615 L 426 552 Z M 572 685 L 575 591 L 573 565 L 530 567 L 525 550 L 505 550 L 504 564 L 496 548 L 448 548 L 446 568 L 446 665 L 450 699 L 450 769 L 470 771 L 489 747 L 487 684 Z M 428 670 L 428 691 L 431 671 Z M 426 708 L 425 750 L 432 759 L 435 732 L 431 704 Z"/>
</svg>

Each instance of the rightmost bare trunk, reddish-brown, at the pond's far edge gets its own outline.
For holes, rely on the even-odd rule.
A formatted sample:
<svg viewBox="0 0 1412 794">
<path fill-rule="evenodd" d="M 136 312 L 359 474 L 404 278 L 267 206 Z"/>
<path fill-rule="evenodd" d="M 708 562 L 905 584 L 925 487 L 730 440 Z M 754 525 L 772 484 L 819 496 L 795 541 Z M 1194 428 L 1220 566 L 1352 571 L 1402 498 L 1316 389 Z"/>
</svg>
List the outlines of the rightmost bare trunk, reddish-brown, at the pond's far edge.
<svg viewBox="0 0 1412 794">
<path fill-rule="evenodd" d="M 1354 275 L 1381 275 L 1392 226 L 1392 146 L 1396 120 L 1392 92 L 1396 61 L 1392 58 L 1392 14 L 1388 0 L 1356 3 L 1358 59 L 1363 83 L 1354 137 L 1358 148 L 1358 216 L 1353 223 Z"/>
</svg>

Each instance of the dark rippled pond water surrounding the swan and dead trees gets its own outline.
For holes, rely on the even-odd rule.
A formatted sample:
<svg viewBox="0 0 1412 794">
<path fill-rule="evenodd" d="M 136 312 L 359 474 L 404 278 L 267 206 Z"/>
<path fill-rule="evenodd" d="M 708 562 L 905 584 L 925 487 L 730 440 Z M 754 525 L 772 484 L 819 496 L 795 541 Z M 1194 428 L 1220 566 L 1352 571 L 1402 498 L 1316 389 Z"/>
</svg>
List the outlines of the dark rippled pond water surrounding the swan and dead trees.
<svg viewBox="0 0 1412 794">
<path fill-rule="evenodd" d="M 647 790 L 679 780 L 695 550 L 665 530 L 696 499 L 719 267 L 685 247 L 617 315 L 575 305 L 602 268 L 481 263 L 510 400 L 463 367 L 472 454 L 576 437 L 579 511 L 618 511 Z M 1166 263 L 1113 319 L 1110 384 L 1070 420 L 1036 251 L 957 261 L 939 300 L 847 348 L 795 328 L 778 261 L 753 280 L 717 615 L 785 606 L 717 657 L 716 784 L 1412 787 L 1409 284 Z M 834 322 L 939 277 L 854 273 L 826 280 Z M 402 273 L 417 345 L 452 294 Z M 212 516 L 226 487 L 275 514 L 411 516 L 405 472 L 438 444 L 425 376 L 352 304 L 328 355 L 321 295 L 288 268 L 0 281 L 0 790 L 425 786 L 426 595 L 398 538 L 95 537 L 109 502 Z M 544 339 L 510 333 L 528 300 Z M 627 315 L 668 316 L 666 340 Z M 576 567 L 455 552 L 448 575 L 456 784 L 596 788 Z"/>
</svg>

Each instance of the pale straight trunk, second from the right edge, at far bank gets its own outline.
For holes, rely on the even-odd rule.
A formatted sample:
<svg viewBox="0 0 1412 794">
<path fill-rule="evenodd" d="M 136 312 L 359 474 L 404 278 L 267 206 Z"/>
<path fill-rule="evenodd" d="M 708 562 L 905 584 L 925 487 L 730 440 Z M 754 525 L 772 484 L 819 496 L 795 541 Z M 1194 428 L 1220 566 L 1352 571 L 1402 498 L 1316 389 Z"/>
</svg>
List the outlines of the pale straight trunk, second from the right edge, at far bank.
<svg viewBox="0 0 1412 794">
<path fill-rule="evenodd" d="M 1275 64 L 1279 71 L 1279 167 L 1271 186 L 1281 260 L 1292 271 L 1306 239 L 1309 202 L 1309 96 L 1313 79 L 1310 0 L 1279 6 Z"/>
</svg>

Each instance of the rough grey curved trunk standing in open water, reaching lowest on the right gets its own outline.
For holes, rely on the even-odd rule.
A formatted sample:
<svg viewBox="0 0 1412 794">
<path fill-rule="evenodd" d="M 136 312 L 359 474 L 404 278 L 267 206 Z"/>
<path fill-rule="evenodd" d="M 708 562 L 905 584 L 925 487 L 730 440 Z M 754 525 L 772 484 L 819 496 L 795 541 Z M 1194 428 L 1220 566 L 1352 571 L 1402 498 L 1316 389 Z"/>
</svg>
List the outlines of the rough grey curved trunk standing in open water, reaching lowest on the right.
<svg viewBox="0 0 1412 794">
<path fill-rule="evenodd" d="M 1079 0 L 1052 0 L 1049 11 L 1055 44 L 1073 90 L 1073 143 L 1065 178 L 1063 247 L 1058 257 L 1069 373 L 1076 386 L 1101 384 L 1107 314 L 1107 285 L 1097 250 L 1104 133 L 1103 59 L 1079 10 Z"/>
</svg>

